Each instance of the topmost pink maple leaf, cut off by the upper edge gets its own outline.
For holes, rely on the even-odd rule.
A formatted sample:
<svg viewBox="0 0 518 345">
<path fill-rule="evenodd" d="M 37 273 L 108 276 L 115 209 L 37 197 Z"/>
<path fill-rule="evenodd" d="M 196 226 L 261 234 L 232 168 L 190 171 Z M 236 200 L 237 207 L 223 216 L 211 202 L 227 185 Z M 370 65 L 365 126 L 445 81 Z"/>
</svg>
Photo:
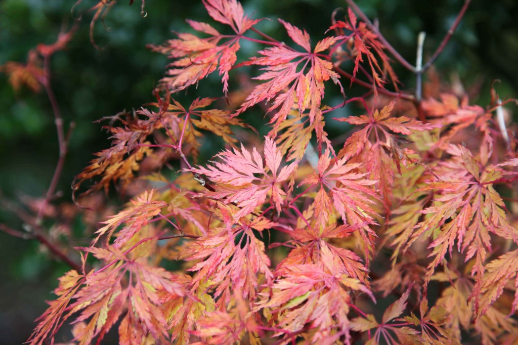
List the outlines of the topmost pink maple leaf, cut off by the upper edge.
<svg viewBox="0 0 518 345">
<path fill-rule="evenodd" d="M 244 32 L 261 20 L 245 16 L 241 4 L 236 0 L 205 0 L 203 4 L 212 19 L 230 26 L 235 35 L 222 35 L 207 23 L 188 20 L 194 30 L 209 37 L 179 33 L 178 39 L 151 48 L 176 59 L 169 64 L 172 67 L 167 71 L 170 77 L 162 79 L 162 83 L 171 91 L 177 92 L 196 84 L 219 67 L 226 95 L 228 71 L 236 63 L 239 40 Z M 225 40 L 224 43 L 221 40 Z"/>
</svg>

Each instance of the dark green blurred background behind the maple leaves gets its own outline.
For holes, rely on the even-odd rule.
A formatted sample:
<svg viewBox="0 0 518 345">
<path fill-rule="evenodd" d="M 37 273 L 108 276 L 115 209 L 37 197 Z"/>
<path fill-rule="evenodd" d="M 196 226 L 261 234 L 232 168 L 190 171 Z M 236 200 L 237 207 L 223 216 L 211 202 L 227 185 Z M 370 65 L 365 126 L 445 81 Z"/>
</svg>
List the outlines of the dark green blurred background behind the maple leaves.
<svg viewBox="0 0 518 345">
<path fill-rule="evenodd" d="M 245 11 L 255 18 L 269 18 L 258 27 L 291 45 L 276 18 L 304 27 L 315 43 L 324 37 L 333 11 L 346 7 L 339 0 L 244 0 Z M 153 87 L 167 65 L 165 56 L 153 53 L 147 44 L 161 44 L 174 38 L 174 32 L 191 32 L 185 19 L 212 23 L 201 2 L 148 0 L 147 16 L 140 15 L 140 2 L 128 1 L 113 6 L 104 23 L 97 22 L 94 38 L 101 49 L 90 42 L 88 9 L 97 4 L 83 0 L 71 13 L 74 1 L 65 0 L 0 0 L 0 65 L 8 61 L 25 62 L 27 52 L 36 45 L 52 44 L 60 31 L 67 31 L 74 17 L 82 16 L 76 35 L 67 49 L 57 52 L 51 60 L 52 88 L 63 114 L 65 128 L 74 121 L 76 129 L 70 140 L 58 191 L 60 198 L 53 210 L 59 217 L 74 208 L 70 185 L 93 153 L 109 147 L 110 141 L 102 124 L 93 123 L 123 109 L 131 110 L 153 102 Z M 439 0 L 358 0 L 371 20 L 377 19 L 386 39 L 411 63 L 415 62 L 416 37 L 425 31 L 424 56 L 430 56 L 454 21 L 463 2 Z M 338 18 L 340 13 L 338 12 Z M 518 96 L 518 3 L 514 0 L 473 2 L 450 44 L 435 66 L 441 82 L 452 82 L 472 90 L 470 103 L 485 106 L 490 102 L 490 87 L 495 79 L 501 97 Z M 222 26 L 214 25 L 217 28 Z M 246 42 L 245 54 L 263 47 Z M 414 77 L 394 64 L 404 84 L 413 90 Z M 236 76 L 239 71 L 234 72 Z M 231 73 L 232 79 L 232 73 Z M 196 95 L 221 96 L 217 76 L 200 83 Z M 344 86 L 349 81 L 343 82 Z M 231 90 L 239 88 L 231 84 Z M 347 90 L 348 96 L 363 90 Z M 175 96 L 188 105 L 195 92 Z M 341 101 L 338 92 L 330 92 L 329 103 Z M 183 100 L 185 99 L 185 100 Z M 338 100 L 337 100 L 338 99 Z M 30 89 L 14 91 L 5 74 L 0 74 L 0 223 L 22 230 L 23 222 L 13 210 L 34 207 L 49 186 L 58 158 L 53 113 L 45 92 L 34 94 Z M 511 107 L 516 112 L 516 107 Z M 348 108 L 340 111 L 347 112 Z M 351 110 L 354 111 L 354 110 Z M 249 116 L 246 121 L 258 125 L 263 115 Z M 267 128 L 260 128 L 266 133 Z M 340 131 L 340 128 L 337 128 Z M 202 156 L 208 157 L 214 148 L 206 145 Z M 115 194 L 114 194 L 115 195 Z M 110 199 L 111 200 L 111 199 Z M 123 202 L 122 199 L 113 203 Z M 64 205 L 64 206 L 63 206 Z M 67 208 L 68 207 L 68 208 Z M 60 232 L 53 224 L 44 223 L 54 231 L 56 239 L 73 234 L 89 234 L 85 224 L 70 218 L 68 227 Z M 78 257 L 74 257 L 78 261 Z M 46 309 L 45 300 L 53 299 L 51 291 L 56 279 L 69 268 L 54 258 L 34 240 L 24 240 L 0 232 L 0 344 L 19 344 L 34 328 L 34 320 Z M 69 335 L 66 335 L 69 338 Z M 63 341 L 63 339 L 56 339 Z"/>
</svg>

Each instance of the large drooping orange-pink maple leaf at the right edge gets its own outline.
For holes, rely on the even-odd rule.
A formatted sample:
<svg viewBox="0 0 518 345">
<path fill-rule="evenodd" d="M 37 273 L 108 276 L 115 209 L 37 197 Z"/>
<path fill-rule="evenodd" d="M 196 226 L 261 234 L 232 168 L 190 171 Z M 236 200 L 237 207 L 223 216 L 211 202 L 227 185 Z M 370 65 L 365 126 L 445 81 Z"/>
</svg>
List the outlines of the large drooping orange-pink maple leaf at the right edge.
<svg viewBox="0 0 518 345">
<path fill-rule="evenodd" d="M 466 261 L 476 258 L 471 274 L 482 279 L 487 252 L 491 252 L 490 234 L 518 241 L 518 232 L 508 224 L 505 205 L 493 184 L 505 175 L 498 166 L 485 167 L 464 147 L 459 147 L 460 164 L 466 174 L 459 177 L 440 176 L 440 181 L 429 182 L 422 190 L 436 190 L 436 204 L 422 211 L 429 214 L 416 225 L 405 250 L 421 234 L 434 236 L 428 248 L 434 260 L 428 266 L 427 280 L 446 253 L 452 253 L 455 241 L 459 252 L 466 252 Z M 438 233 L 431 230 L 439 231 Z"/>
</svg>

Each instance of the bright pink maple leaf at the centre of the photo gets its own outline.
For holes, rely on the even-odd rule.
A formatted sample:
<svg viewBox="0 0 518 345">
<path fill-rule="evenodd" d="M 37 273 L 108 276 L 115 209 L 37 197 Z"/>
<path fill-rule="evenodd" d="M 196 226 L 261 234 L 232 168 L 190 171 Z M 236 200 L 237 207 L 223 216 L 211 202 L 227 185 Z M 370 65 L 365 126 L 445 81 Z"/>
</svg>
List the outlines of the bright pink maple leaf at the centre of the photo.
<svg viewBox="0 0 518 345">
<path fill-rule="evenodd" d="M 215 186 L 215 192 L 206 192 L 206 195 L 217 199 L 224 198 L 226 203 L 236 203 L 241 208 L 234 215 L 235 219 L 249 214 L 255 207 L 262 205 L 268 193 L 271 193 L 272 206 L 275 206 L 278 212 L 281 211 L 282 196 L 286 193 L 276 184 L 290 177 L 298 161 L 282 167 L 279 171 L 282 155 L 274 140 L 269 137 L 265 137 L 265 140 L 266 167 L 263 164 L 263 156 L 255 147 L 250 153 L 241 144 L 241 152 L 234 149 L 218 154 L 222 163 L 214 162 L 207 168 L 199 166 L 193 169 L 198 174 L 204 174 L 210 180 L 219 183 Z M 268 171 L 271 172 L 271 176 Z"/>
</svg>

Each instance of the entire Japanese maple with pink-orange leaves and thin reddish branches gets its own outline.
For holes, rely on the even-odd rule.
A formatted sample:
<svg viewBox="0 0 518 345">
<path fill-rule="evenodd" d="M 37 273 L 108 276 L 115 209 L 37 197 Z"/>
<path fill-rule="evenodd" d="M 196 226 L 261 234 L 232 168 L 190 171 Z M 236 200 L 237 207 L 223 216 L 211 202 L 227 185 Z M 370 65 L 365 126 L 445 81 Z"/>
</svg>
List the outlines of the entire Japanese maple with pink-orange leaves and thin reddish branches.
<svg viewBox="0 0 518 345">
<path fill-rule="evenodd" d="M 76 248 L 81 264 L 41 226 L 68 145 L 48 60 L 76 26 L 31 51 L 26 64 L 1 67 L 15 89 L 46 90 L 60 142 L 32 237 L 72 269 L 28 343 L 54 342 L 65 322 L 80 344 L 111 329 L 122 344 L 518 341 L 518 137 L 503 116 L 516 101 L 494 88 L 485 108 L 450 90 L 422 94 L 423 73 L 470 1 L 425 64 L 421 42 L 415 66 L 346 1 L 314 46 L 282 19 L 295 45 L 268 36 L 237 0 L 203 0 L 220 30 L 188 20 L 191 32 L 150 46 L 171 59 L 154 99 L 103 119 L 112 146 L 73 184 L 83 217 L 98 190 L 130 195 Z M 92 27 L 114 4 L 92 8 Z M 245 56 L 243 41 L 263 48 Z M 396 63 L 416 75 L 414 93 Z M 244 91 L 232 87 L 239 68 L 256 73 Z M 196 92 L 216 72 L 222 89 L 186 106 L 182 91 Z M 350 97 L 347 84 L 367 93 Z M 340 104 L 326 104 L 326 90 Z M 334 115 L 351 103 L 364 114 Z M 253 110 L 267 135 L 243 118 Z M 333 122 L 353 130 L 334 140 Z M 203 161 L 209 135 L 224 147 Z"/>
</svg>

